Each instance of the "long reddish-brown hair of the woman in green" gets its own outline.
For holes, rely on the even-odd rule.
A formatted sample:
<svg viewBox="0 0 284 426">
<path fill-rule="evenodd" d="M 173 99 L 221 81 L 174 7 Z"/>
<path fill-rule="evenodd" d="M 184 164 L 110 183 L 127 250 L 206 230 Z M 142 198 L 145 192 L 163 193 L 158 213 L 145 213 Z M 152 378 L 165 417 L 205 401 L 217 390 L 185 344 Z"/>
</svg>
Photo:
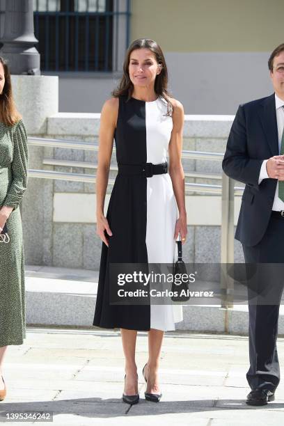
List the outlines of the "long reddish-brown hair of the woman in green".
<svg viewBox="0 0 284 426">
<path fill-rule="evenodd" d="M 13 126 L 22 117 L 15 106 L 12 93 L 11 74 L 6 60 L 0 56 L 0 62 L 3 65 L 5 84 L 0 94 L 0 118 L 8 126 Z"/>
</svg>

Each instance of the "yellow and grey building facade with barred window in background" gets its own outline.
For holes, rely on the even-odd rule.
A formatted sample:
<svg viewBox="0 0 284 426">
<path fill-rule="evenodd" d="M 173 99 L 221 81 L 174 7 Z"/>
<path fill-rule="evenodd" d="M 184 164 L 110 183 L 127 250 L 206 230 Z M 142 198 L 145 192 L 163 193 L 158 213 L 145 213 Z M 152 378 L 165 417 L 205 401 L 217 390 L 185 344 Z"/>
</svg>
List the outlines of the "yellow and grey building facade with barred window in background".
<svg viewBox="0 0 284 426">
<path fill-rule="evenodd" d="M 161 45 L 169 88 L 188 114 L 232 114 L 271 93 L 267 60 L 284 41 L 283 0 L 34 0 L 42 74 L 59 110 L 98 112 L 136 38 Z M 6 1 L 0 0 L 0 36 Z"/>
</svg>

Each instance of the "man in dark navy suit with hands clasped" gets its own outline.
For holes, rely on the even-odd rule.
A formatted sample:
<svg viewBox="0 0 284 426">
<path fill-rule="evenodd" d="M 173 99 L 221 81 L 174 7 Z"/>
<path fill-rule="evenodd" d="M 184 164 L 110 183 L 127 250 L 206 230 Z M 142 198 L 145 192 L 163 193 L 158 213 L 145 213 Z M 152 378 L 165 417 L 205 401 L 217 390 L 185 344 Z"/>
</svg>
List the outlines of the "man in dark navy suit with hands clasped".
<svg viewBox="0 0 284 426">
<path fill-rule="evenodd" d="M 230 178 L 246 184 L 235 238 L 245 262 L 258 265 L 284 263 L 284 43 L 268 65 L 275 93 L 239 106 L 222 164 Z M 273 401 L 280 380 L 276 339 L 284 277 L 276 269 L 273 278 L 258 275 L 259 288 L 275 287 L 276 302 L 255 303 L 248 289 L 250 405 Z"/>
</svg>

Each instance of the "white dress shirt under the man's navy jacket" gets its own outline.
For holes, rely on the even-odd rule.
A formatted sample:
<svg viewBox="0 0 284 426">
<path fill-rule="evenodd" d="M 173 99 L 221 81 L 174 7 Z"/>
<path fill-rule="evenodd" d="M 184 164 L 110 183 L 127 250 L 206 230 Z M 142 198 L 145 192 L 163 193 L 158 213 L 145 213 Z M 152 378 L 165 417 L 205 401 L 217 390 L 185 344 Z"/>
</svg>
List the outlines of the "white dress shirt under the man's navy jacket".
<svg viewBox="0 0 284 426">
<path fill-rule="evenodd" d="M 284 100 L 280 99 L 275 93 L 275 104 L 276 104 L 276 119 L 277 119 L 277 129 L 278 129 L 278 145 L 279 145 L 279 152 L 281 149 L 281 139 L 284 129 Z M 260 177 L 258 178 L 258 184 L 262 181 L 262 179 L 269 179 L 269 175 L 267 175 L 267 164 L 268 159 L 264 160 L 262 162 L 262 166 L 260 168 Z M 280 210 L 284 210 L 284 202 L 278 197 L 278 181 L 274 196 L 274 203 L 272 206 L 272 210 L 277 210 L 278 212 Z"/>
</svg>

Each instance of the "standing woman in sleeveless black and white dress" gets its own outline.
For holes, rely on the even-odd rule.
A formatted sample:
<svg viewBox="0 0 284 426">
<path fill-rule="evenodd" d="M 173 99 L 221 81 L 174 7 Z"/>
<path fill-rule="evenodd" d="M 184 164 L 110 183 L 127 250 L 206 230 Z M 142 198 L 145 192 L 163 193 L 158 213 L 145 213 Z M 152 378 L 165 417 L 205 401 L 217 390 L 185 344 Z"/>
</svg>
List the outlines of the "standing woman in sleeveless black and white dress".
<svg viewBox="0 0 284 426">
<path fill-rule="evenodd" d="M 172 264 L 179 234 L 185 242 L 187 214 L 181 163 L 184 113 L 182 104 L 168 95 L 166 62 L 155 41 L 132 42 L 123 71 L 118 89 L 105 102 L 101 114 L 97 234 L 103 244 L 93 324 L 121 329 L 126 373 L 123 400 L 135 404 L 139 401 L 137 331 L 148 331 L 145 397 L 157 402 L 161 397 L 157 372 L 164 331 L 175 330 L 175 322 L 182 321 L 182 307 L 111 305 L 109 264 Z M 105 217 L 113 138 L 118 175 Z M 152 175 L 153 171 L 157 174 Z"/>
</svg>

